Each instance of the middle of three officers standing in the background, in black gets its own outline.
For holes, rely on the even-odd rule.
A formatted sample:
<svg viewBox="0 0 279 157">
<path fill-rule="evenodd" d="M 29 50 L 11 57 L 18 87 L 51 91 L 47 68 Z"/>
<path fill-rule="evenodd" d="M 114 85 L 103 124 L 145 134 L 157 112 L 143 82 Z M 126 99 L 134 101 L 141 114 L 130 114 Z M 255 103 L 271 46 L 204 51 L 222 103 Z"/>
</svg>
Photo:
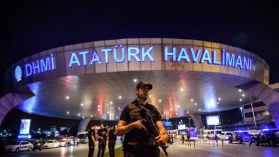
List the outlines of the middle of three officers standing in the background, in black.
<svg viewBox="0 0 279 157">
<path fill-rule="evenodd" d="M 105 154 L 105 146 L 107 145 L 107 128 L 104 127 L 104 124 L 100 124 L 100 129 L 97 132 L 98 137 L 98 157 L 103 157 Z"/>
</svg>

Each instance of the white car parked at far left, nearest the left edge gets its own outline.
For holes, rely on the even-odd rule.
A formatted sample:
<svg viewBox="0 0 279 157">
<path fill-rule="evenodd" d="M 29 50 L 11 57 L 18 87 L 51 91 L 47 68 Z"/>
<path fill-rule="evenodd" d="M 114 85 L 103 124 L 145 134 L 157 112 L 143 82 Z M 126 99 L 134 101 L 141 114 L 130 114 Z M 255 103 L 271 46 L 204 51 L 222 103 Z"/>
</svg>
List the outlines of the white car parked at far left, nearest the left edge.
<svg viewBox="0 0 279 157">
<path fill-rule="evenodd" d="M 4 151 L 31 151 L 33 149 L 33 144 L 28 141 L 17 141 L 4 147 Z"/>
</svg>

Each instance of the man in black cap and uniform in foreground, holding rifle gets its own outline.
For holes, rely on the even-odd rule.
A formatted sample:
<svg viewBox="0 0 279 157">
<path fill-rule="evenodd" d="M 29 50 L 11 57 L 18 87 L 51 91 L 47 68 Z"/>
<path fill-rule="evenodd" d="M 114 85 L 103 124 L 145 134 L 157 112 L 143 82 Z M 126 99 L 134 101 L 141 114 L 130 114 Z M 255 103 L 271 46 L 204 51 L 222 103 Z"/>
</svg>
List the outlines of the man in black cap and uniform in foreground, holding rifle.
<svg viewBox="0 0 279 157">
<path fill-rule="evenodd" d="M 155 106 L 146 103 L 149 90 L 152 88 L 152 85 L 147 82 L 139 82 L 136 87 L 137 99 L 127 105 L 121 113 L 116 133 L 118 135 L 125 134 L 123 142 L 124 157 L 159 157 L 158 145 L 165 146 L 167 144 L 168 135 L 160 113 Z M 159 130 L 160 135 L 155 139 L 146 132 L 146 127 L 142 124 L 140 107 L 148 110 Z"/>
</svg>

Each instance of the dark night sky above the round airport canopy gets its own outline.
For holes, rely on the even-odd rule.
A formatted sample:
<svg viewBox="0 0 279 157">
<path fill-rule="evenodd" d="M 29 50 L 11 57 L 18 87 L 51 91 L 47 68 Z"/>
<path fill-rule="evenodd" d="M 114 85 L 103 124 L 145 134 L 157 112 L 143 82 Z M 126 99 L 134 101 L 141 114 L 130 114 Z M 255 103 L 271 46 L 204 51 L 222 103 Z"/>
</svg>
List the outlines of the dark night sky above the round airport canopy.
<svg viewBox="0 0 279 157">
<path fill-rule="evenodd" d="M 31 54 L 117 38 L 186 38 L 241 47 L 269 64 L 271 84 L 279 82 L 277 5 L 197 2 L 2 2 L 1 82 L 12 63 Z"/>
</svg>

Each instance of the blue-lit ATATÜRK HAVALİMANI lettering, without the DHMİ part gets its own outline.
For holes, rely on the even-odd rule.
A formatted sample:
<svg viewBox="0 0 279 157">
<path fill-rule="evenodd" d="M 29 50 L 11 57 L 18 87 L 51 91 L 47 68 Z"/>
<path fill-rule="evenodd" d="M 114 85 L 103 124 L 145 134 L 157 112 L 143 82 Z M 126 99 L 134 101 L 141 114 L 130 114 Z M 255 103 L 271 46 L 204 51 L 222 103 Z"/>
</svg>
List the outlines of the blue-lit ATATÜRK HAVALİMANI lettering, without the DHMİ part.
<svg viewBox="0 0 279 157">
<path fill-rule="evenodd" d="M 127 50 L 127 55 L 125 54 Z M 153 57 L 154 47 L 125 47 L 123 45 L 115 45 L 114 48 L 103 48 L 98 52 L 97 50 L 82 51 L 82 52 L 72 52 L 70 54 L 70 61 L 68 67 L 73 66 L 87 66 L 92 65 L 93 63 L 103 64 L 110 63 L 113 57 L 114 62 L 122 63 L 123 61 L 128 60 L 132 61 L 132 58 L 137 62 L 144 62 L 146 59 L 149 61 L 155 61 Z M 220 66 L 229 66 L 233 68 L 241 68 L 243 70 L 252 70 L 252 59 L 249 57 L 244 57 L 242 55 L 236 55 L 226 50 L 222 50 L 218 54 L 217 51 L 213 50 L 209 52 L 206 48 L 204 50 L 197 49 L 194 50 L 193 47 L 186 48 L 176 48 L 165 46 L 163 48 L 163 61 L 174 61 L 180 62 L 184 61 L 186 63 L 208 63 Z M 105 59 L 100 58 L 100 53 L 104 54 Z M 112 53 L 112 55 L 110 55 Z M 80 57 L 78 57 L 80 55 Z M 220 57 L 218 57 L 218 55 Z M 89 57 L 89 62 L 87 61 Z M 79 59 L 80 58 L 80 59 Z"/>
</svg>

